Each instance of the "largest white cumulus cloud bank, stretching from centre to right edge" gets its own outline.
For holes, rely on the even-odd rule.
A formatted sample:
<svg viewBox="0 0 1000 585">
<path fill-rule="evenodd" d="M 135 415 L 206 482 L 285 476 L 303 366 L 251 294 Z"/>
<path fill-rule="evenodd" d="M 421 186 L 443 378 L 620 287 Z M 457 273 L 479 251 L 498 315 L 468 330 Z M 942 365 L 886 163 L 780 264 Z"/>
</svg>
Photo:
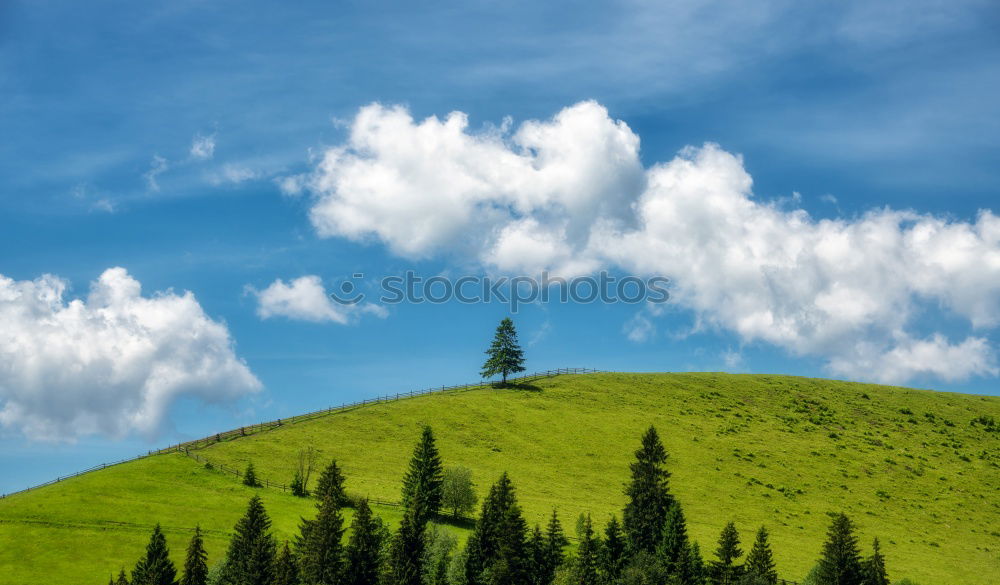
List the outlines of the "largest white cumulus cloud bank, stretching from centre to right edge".
<svg viewBox="0 0 1000 585">
<path fill-rule="evenodd" d="M 816 220 L 795 199 L 755 198 L 741 157 L 715 144 L 644 167 L 639 137 L 595 102 L 480 131 L 460 112 L 416 121 L 367 106 L 345 143 L 291 182 L 311 192 L 320 236 L 406 257 L 471 255 L 506 272 L 667 276 L 700 327 L 855 378 L 998 373 L 973 333 L 1000 324 L 992 211 L 971 222 L 889 208 Z M 937 307 L 973 331 L 917 333 Z M 625 331 L 642 341 L 654 328 L 639 315 Z"/>
</svg>

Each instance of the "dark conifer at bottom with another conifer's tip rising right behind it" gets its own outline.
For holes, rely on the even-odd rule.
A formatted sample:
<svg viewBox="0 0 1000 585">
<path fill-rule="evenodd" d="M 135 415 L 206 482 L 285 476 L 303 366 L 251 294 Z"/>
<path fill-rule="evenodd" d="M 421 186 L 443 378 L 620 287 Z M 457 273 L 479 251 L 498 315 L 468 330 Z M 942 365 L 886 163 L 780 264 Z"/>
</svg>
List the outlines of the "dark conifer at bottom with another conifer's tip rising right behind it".
<svg viewBox="0 0 1000 585">
<path fill-rule="evenodd" d="M 299 564 L 301 579 L 308 585 L 335 585 L 344 570 L 344 520 L 330 494 L 320 502 L 316 519 L 304 535 Z"/>
</svg>

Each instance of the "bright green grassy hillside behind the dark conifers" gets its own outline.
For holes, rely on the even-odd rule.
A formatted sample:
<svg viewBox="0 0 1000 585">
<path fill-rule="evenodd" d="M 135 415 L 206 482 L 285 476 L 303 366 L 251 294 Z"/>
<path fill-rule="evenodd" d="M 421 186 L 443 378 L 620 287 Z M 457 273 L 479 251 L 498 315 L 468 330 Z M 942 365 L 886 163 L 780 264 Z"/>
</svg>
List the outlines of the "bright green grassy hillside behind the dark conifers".
<svg viewBox="0 0 1000 585">
<path fill-rule="evenodd" d="M 240 468 L 252 460 L 261 477 L 287 483 L 298 450 L 314 445 L 341 463 L 348 491 L 397 500 L 430 424 L 445 464 L 471 468 L 481 494 L 507 470 L 530 521 L 558 507 L 572 531 L 580 512 L 620 513 L 632 452 L 655 424 L 703 550 L 730 519 L 744 541 L 766 524 L 779 572 L 800 580 L 827 513 L 843 510 L 866 548 L 880 537 L 890 577 L 989 584 L 1000 583 L 1000 433 L 970 424 L 982 415 L 1000 419 L 1000 399 L 785 376 L 590 374 L 372 405 L 199 455 Z M 250 492 L 172 454 L 0 500 L 0 583 L 105 581 L 156 521 L 178 558 L 201 523 L 217 559 Z M 279 537 L 311 514 L 311 502 L 261 492 Z M 394 508 L 377 511 L 397 520 Z"/>
</svg>

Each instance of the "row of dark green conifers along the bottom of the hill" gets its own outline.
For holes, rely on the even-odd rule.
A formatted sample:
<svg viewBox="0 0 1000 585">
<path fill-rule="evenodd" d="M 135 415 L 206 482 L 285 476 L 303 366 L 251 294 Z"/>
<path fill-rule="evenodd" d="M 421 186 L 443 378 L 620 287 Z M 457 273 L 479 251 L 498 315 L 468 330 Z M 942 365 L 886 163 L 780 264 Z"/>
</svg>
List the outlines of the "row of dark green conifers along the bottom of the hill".
<svg viewBox="0 0 1000 585">
<path fill-rule="evenodd" d="M 578 522 L 578 545 L 569 547 L 553 510 L 545 526 L 529 528 L 506 473 L 483 501 L 464 547 L 435 520 L 449 489 L 434 434 L 425 428 L 403 479 L 404 514 L 393 533 L 364 499 L 351 501 L 336 461 L 321 474 L 316 515 L 302 519 L 291 542 L 279 544 L 257 496 L 236 523 L 224 559 L 211 570 L 200 529 L 195 529 L 183 569 L 170 560 L 166 539 L 154 528 L 131 575 L 124 569 L 110 585 L 777 585 L 769 535 L 760 527 L 744 556 L 730 522 L 705 560 L 689 538 L 681 503 L 670 491 L 667 452 L 650 427 L 630 465 L 621 520 L 603 527 Z M 304 486 L 302 489 L 305 492 Z M 468 494 L 463 496 L 468 501 Z M 352 506 L 346 542 L 342 510 Z M 458 510 L 450 510 L 453 515 Z M 816 585 L 887 585 L 878 540 L 862 559 L 854 526 L 844 514 L 832 523 L 816 568 Z"/>
</svg>

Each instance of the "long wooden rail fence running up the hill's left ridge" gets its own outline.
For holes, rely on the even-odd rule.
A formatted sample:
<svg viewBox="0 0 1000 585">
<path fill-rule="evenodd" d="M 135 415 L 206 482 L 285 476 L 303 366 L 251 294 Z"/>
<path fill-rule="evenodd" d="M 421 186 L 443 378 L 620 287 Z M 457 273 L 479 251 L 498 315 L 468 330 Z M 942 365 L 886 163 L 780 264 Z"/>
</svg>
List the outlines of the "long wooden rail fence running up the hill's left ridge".
<svg viewBox="0 0 1000 585">
<path fill-rule="evenodd" d="M 532 374 L 525 374 L 523 376 L 517 376 L 517 377 L 514 377 L 514 378 L 510 378 L 508 380 L 508 382 L 510 382 L 510 383 L 524 383 L 524 382 L 529 382 L 531 380 L 537 380 L 537 379 L 540 379 L 540 378 L 548 378 L 548 377 L 551 377 L 551 376 L 559 376 L 559 375 L 564 375 L 564 374 L 594 374 L 594 373 L 599 373 L 599 372 L 603 372 L 603 370 L 595 370 L 593 368 L 557 368 L 555 370 L 544 370 L 544 371 L 541 371 L 541 372 L 535 372 L 535 373 L 532 373 Z M 122 459 L 120 461 L 115 461 L 115 462 L 112 462 L 112 463 L 101 463 L 99 465 L 94 465 L 93 467 L 88 467 L 87 469 L 84 469 L 83 471 L 77 471 L 76 473 L 71 473 L 69 475 L 59 476 L 59 477 L 57 477 L 57 478 L 55 478 L 53 480 L 49 480 L 49 481 L 47 481 L 45 483 L 40 483 L 38 485 L 33 485 L 31 487 L 27 487 L 27 488 L 24 488 L 22 490 L 17 490 L 17 491 L 14 491 L 14 492 L 10 492 L 8 494 L 0 494 L 0 499 L 7 498 L 7 497 L 10 497 L 10 496 L 14 496 L 14 495 L 17 495 L 17 494 L 23 494 L 25 492 L 30 492 L 30 491 L 33 491 L 33 490 L 37 490 L 39 488 L 50 486 L 50 485 L 59 483 L 61 481 L 65 481 L 67 479 L 71 479 L 71 478 L 74 478 L 74 477 L 81 476 L 81 475 L 83 475 L 85 473 L 91 473 L 91 472 L 94 472 L 94 471 L 100 471 L 101 469 L 107 469 L 109 467 L 114 467 L 116 465 L 121 465 L 122 463 L 129 463 L 131 461 L 137 461 L 139 459 L 144 459 L 144 458 L 152 456 L 152 455 L 160 455 L 160 454 L 163 454 L 163 453 L 171 453 L 171 452 L 177 452 L 177 451 L 182 452 L 185 455 L 192 455 L 192 453 L 190 453 L 190 451 L 192 451 L 192 450 L 197 450 L 197 449 L 200 449 L 202 447 L 207 447 L 208 445 L 212 445 L 212 444 L 215 444 L 215 443 L 227 440 L 227 439 L 234 439 L 234 438 L 238 438 L 238 437 L 245 437 L 245 436 L 256 434 L 256 433 L 260 433 L 260 432 L 263 432 L 263 431 L 269 431 L 269 430 L 272 430 L 272 429 L 276 429 L 276 428 L 282 427 L 284 425 L 295 424 L 295 423 L 300 423 L 300 422 L 304 422 L 304 421 L 308 421 L 308 420 L 313 420 L 313 419 L 316 419 L 316 418 L 320 418 L 322 416 L 327 416 L 327 415 L 334 414 L 334 413 L 337 413 L 337 412 L 345 412 L 345 411 L 348 411 L 348 410 L 352 410 L 352 409 L 359 408 L 359 407 L 362 407 L 362 406 L 367 406 L 367 405 L 370 405 L 370 404 L 381 404 L 381 403 L 386 403 L 386 402 L 395 402 L 397 400 L 403 400 L 403 399 L 406 399 L 406 398 L 413 398 L 415 396 L 423 396 L 425 394 L 433 394 L 435 392 L 448 392 L 448 391 L 457 391 L 457 390 L 471 390 L 471 389 L 474 389 L 474 388 L 483 388 L 483 387 L 486 387 L 486 386 L 493 385 L 494 383 L 495 382 L 488 381 L 488 380 L 480 380 L 479 382 L 473 382 L 473 383 L 470 383 L 470 384 L 456 384 L 456 385 L 453 385 L 453 386 L 435 386 L 433 388 L 425 388 L 423 390 L 412 390 L 410 392 L 397 392 L 395 394 L 386 394 L 384 396 L 376 396 L 375 398 L 366 398 L 366 399 L 358 401 L 358 402 L 342 403 L 340 406 L 330 406 L 329 408 L 323 408 L 323 409 L 320 409 L 320 410 L 314 410 L 312 412 L 307 412 L 305 414 L 300 414 L 300 415 L 296 415 L 296 416 L 292 416 L 292 417 L 288 417 L 288 418 L 279 418 L 279 419 L 276 419 L 276 420 L 273 420 L 273 421 L 262 422 L 262 423 L 257 423 L 257 424 L 254 424 L 254 425 L 239 427 L 237 429 L 232 429 L 232 430 L 229 430 L 229 431 L 225 431 L 225 432 L 221 432 L 221 433 L 216 433 L 214 435 L 210 435 L 208 437 L 203 437 L 201 439 L 195 439 L 193 441 L 186 441 L 184 443 L 178 443 L 176 445 L 171 445 L 169 447 L 164 447 L 162 449 L 156 449 L 156 450 L 148 451 L 148 452 L 146 452 L 144 454 L 136 455 L 135 457 L 130 457 L 128 459 Z M 198 457 L 195 456 L 195 459 L 198 459 Z M 219 469 L 222 468 L 221 466 L 216 465 L 216 464 L 212 464 L 212 465 L 214 467 L 216 467 L 216 468 L 219 468 Z M 240 474 L 239 470 L 229 470 L 229 469 L 226 469 L 225 471 L 227 473 L 234 473 L 235 472 L 235 475 L 237 477 L 239 477 L 239 474 Z M 288 486 L 285 486 L 285 485 L 282 485 L 282 484 L 274 484 L 274 483 L 269 484 L 268 487 L 275 487 L 275 488 L 280 488 L 280 489 L 289 489 Z M 375 500 L 372 500 L 372 502 L 375 502 Z M 383 505 L 388 505 L 388 506 L 396 505 L 394 502 L 375 502 L 375 503 L 379 503 L 379 504 L 383 504 Z"/>
</svg>

